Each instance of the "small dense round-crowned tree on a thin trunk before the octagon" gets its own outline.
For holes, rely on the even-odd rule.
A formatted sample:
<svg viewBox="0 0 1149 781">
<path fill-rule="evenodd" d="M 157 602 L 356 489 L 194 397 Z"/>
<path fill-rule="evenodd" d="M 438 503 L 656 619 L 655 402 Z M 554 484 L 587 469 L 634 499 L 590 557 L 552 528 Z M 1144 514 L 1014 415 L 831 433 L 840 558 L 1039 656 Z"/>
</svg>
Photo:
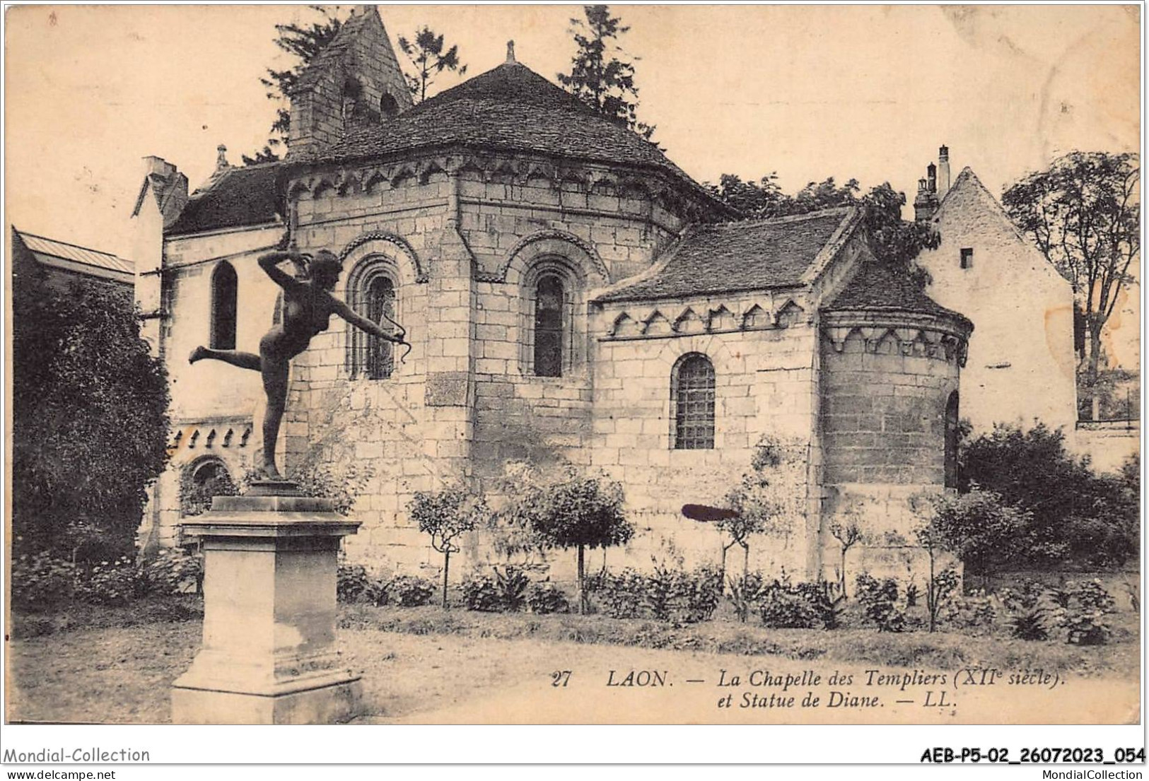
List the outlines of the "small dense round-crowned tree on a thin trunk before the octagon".
<svg viewBox="0 0 1149 781">
<path fill-rule="evenodd" d="M 623 509 L 623 487 L 573 469 L 555 480 L 541 480 L 530 470 L 517 477 L 514 500 L 503 511 L 506 523 L 530 529 L 542 546 L 578 551 L 579 612 L 585 613 L 586 549 L 620 546 L 634 535 Z"/>
</svg>

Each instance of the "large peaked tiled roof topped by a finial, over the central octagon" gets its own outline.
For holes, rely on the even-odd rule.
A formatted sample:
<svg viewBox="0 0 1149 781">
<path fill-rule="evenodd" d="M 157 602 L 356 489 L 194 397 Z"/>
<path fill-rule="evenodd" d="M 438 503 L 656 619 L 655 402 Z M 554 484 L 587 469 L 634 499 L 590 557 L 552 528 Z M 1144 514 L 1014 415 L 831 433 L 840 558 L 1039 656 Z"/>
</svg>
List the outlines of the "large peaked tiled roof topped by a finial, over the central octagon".
<svg viewBox="0 0 1149 781">
<path fill-rule="evenodd" d="M 517 62 L 468 79 L 390 122 L 353 129 L 325 148 L 290 154 L 288 161 L 325 163 L 445 146 L 658 168 L 704 192 L 655 145 Z"/>
</svg>

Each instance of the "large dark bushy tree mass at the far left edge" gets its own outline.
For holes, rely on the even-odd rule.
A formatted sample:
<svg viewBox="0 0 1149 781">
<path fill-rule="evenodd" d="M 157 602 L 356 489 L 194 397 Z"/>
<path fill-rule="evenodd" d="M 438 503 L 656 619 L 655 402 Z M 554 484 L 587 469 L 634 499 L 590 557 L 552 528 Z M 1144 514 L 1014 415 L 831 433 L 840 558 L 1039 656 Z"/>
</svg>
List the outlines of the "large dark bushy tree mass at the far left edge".
<svg viewBox="0 0 1149 781">
<path fill-rule="evenodd" d="M 79 560 L 133 550 L 168 461 L 168 379 L 129 294 L 13 287 L 14 550 Z"/>
</svg>

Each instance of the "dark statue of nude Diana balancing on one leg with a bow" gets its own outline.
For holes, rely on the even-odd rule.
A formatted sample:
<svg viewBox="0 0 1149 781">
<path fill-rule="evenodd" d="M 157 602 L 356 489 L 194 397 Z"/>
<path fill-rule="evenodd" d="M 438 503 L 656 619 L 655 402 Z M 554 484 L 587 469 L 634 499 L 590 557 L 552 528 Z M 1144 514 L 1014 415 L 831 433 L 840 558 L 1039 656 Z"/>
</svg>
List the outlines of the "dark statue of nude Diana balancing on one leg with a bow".
<svg viewBox="0 0 1149 781">
<path fill-rule="evenodd" d="M 292 277 L 279 268 L 284 261 L 295 264 L 296 276 Z M 260 256 L 260 268 L 271 280 L 283 288 L 283 318 L 260 340 L 260 354 L 241 350 L 215 350 L 196 347 L 188 361 L 195 363 L 205 358 L 223 361 L 240 369 L 250 369 L 263 376 L 263 392 L 268 396 L 268 409 L 263 417 L 263 453 L 255 464 L 256 473 L 264 480 L 282 480 L 276 467 L 276 441 L 279 424 L 287 404 L 287 370 L 291 359 L 307 349 L 311 337 L 327 330 L 332 315 L 338 315 L 352 325 L 372 337 L 386 339 L 396 345 L 410 345 L 406 332 L 391 318 L 394 331 L 385 331 L 340 301 L 332 291 L 339 281 L 342 265 L 339 258 L 326 249 L 321 249 L 310 261 L 295 250 L 277 250 Z"/>
</svg>

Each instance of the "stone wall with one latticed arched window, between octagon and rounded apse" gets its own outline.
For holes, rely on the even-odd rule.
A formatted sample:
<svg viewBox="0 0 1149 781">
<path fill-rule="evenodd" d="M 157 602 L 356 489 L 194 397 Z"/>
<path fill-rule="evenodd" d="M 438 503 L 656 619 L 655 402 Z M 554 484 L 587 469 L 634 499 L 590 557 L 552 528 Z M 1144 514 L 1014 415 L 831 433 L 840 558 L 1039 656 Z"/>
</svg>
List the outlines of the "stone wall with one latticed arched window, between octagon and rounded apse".
<svg viewBox="0 0 1149 781">
<path fill-rule="evenodd" d="M 722 534 L 684 518 L 681 507 L 723 507 L 763 435 L 796 455 L 793 482 L 807 492 L 817 411 L 808 306 L 778 293 L 612 304 L 597 315 L 596 331 L 609 335 L 595 346 L 591 465 L 623 484 L 639 532 L 625 550 L 607 554 L 614 566 L 648 567 L 651 557 L 676 555 L 687 566 L 717 564 Z M 715 369 L 711 450 L 673 448 L 671 372 L 688 353 L 705 355 Z M 804 495 L 793 503 L 788 532 L 751 544 L 751 569 L 807 571 L 812 540 L 804 504 Z"/>
</svg>

